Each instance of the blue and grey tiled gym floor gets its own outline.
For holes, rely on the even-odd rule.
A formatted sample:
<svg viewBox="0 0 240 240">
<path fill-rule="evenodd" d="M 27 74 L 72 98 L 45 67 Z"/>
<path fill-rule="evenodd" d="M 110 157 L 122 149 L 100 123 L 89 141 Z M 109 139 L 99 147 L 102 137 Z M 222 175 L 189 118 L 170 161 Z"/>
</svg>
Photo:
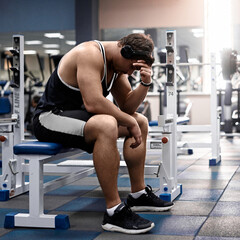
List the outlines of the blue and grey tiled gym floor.
<svg viewBox="0 0 240 240">
<path fill-rule="evenodd" d="M 189 136 L 189 135 L 188 135 Z M 203 137 L 203 138 L 202 138 Z M 192 135 L 201 140 L 205 136 Z M 183 136 L 184 138 L 184 136 Z M 240 240 L 240 139 L 221 139 L 222 161 L 209 167 L 210 149 L 194 149 L 178 156 L 178 182 L 183 193 L 169 212 L 140 213 L 155 222 L 143 235 L 105 232 L 101 228 L 105 202 L 95 174 L 45 195 L 47 213 L 67 214 L 70 229 L 4 229 L 5 214 L 27 212 L 28 194 L 0 202 L 0 238 L 9 239 L 123 239 L 124 240 Z M 76 159 L 88 157 L 79 154 Z M 150 159 L 151 160 L 151 159 Z M 56 176 L 48 176 L 45 181 Z M 157 189 L 159 181 L 146 175 L 146 184 Z M 122 199 L 130 191 L 128 175 L 119 175 Z"/>
</svg>

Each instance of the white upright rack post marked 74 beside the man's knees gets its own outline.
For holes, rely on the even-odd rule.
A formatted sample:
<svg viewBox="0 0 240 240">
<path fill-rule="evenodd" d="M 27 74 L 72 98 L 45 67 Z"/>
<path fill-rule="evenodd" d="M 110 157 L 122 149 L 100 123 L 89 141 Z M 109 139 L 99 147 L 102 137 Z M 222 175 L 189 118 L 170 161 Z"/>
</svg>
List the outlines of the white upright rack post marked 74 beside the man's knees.
<svg viewBox="0 0 240 240">
<path fill-rule="evenodd" d="M 160 115 L 158 126 L 162 127 L 162 159 L 159 164 L 160 198 L 173 201 L 182 194 L 177 182 L 177 86 L 176 86 L 176 31 L 166 32 L 166 115 Z"/>
</svg>

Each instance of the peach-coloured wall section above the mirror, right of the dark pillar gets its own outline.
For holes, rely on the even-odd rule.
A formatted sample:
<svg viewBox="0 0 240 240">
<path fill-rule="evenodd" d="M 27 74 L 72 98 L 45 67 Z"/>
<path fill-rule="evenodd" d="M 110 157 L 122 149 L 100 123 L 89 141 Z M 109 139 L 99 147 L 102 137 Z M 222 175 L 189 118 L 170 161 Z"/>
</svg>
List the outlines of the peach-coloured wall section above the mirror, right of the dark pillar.
<svg viewBox="0 0 240 240">
<path fill-rule="evenodd" d="M 204 0 L 99 0 L 104 28 L 154 28 L 204 25 Z"/>
</svg>

